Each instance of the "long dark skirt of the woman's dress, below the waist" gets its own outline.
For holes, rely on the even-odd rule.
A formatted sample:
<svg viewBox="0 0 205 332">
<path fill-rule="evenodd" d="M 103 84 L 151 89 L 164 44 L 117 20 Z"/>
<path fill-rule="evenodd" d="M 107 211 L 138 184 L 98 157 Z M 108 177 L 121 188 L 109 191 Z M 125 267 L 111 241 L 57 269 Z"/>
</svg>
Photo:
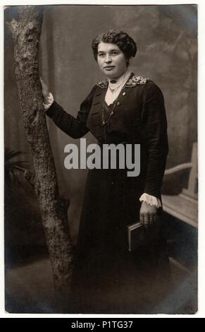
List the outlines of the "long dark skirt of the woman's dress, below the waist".
<svg viewBox="0 0 205 332">
<path fill-rule="evenodd" d="M 170 273 L 163 218 L 159 238 L 128 251 L 127 226 L 139 221 L 142 177 L 125 170 L 89 170 L 72 280 L 75 313 L 152 313 Z"/>
</svg>

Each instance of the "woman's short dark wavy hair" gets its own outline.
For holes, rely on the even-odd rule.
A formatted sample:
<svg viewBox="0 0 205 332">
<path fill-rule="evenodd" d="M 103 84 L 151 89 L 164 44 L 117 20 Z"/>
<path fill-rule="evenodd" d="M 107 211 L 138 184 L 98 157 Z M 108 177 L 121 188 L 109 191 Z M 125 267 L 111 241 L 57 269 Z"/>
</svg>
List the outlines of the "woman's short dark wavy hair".
<svg viewBox="0 0 205 332">
<path fill-rule="evenodd" d="M 97 61 L 98 45 L 100 42 L 110 42 L 111 44 L 118 45 L 119 49 L 125 54 L 125 58 L 129 60 L 131 57 L 135 57 L 137 53 L 137 45 L 134 40 L 128 35 L 128 33 L 122 30 L 108 30 L 107 32 L 98 35 L 92 41 L 92 51 L 94 59 Z"/>
</svg>

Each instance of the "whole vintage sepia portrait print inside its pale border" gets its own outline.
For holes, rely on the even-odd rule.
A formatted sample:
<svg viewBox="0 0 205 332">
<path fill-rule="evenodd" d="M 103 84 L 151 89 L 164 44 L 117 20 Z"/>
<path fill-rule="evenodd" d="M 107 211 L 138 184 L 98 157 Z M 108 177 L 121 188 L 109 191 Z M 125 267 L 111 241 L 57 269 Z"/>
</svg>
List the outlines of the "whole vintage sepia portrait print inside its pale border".
<svg viewBox="0 0 205 332">
<path fill-rule="evenodd" d="M 11 314 L 196 314 L 197 4 L 4 6 Z"/>
</svg>

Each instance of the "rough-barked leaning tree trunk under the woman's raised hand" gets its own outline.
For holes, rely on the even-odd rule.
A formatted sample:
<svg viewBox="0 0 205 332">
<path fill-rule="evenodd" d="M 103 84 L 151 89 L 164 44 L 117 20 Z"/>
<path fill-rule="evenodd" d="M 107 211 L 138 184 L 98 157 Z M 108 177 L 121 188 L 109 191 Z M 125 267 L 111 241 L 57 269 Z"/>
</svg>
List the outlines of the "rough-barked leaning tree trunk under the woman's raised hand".
<svg viewBox="0 0 205 332">
<path fill-rule="evenodd" d="M 35 193 L 42 213 L 54 286 L 59 295 L 69 291 L 73 270 L 73 245 L 68 227 L 68 203 L 58 194 L 56 169 L 39 83 L 38 51 L 42 8 L 19 7 L 19 20 L 13 19 L 9 25 L 15 43 L 15 76 L 20 108 L 35 168 Z"/>
</svg>

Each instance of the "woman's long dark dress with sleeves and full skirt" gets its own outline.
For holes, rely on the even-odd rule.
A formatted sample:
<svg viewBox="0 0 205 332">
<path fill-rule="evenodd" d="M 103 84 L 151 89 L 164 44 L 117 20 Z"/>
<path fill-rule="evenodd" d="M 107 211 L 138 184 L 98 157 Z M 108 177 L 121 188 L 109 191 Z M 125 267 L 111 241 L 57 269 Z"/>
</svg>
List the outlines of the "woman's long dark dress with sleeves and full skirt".
<svg viewBox="0 0 205 332">
<path fill-rule="evenodd" d="M 135 82 L 135 80 L 133 81 Z M 147 83 L 147 85 L 149 84 Z M 99 139 L 99 146 L 101 143 L 141 143 L 142 145 L 142 172 L 138 177 L 127 177 L 126 169 L 89 170 L 72 280 L 73 312 L 76 313 L 154 313 L 167 290 L 169 265 L 166 241 L 163 237 L 161 209 L 159 209 L 159 225 L 157 226 L 158 239 L 151 239 L 149 244 L 140 247 L 135 252 L 128 251 L 127 226 L 139 220 L 141 205 L 139 197 L 143 192 L 160 198 L 160 186 L 167 155 L 166 115 L 161 91 L 156 88 L 154 83 L 151 83 L 151 93 L 149 93 L 150 85 L 147 90 L 145 89 L 146 92 L 148 91 L 145 96 L 147 100 L 149 95 L 156 94 L 154 101 L 151 102 L 151 107 L 146 106 L 149 109 L 152 107 L 156 109 L 156 114 L 146 114 L 149 110 L 145 106 L 144 109 L 142 107 L 143 98 L 145 98 L 142 93 L 144 86 L 145 83 L 134 86 L 135 89 L 138 88 L 137 95 L 135 90 L 135 97 L 136 100 L 139 100 L 141 107 L 140 126 L 143 121 L 145 123 L 143 133 L 140 127 L 140 135 L 138 133 L 139 136 L 135 135 L 135 138 L 133 136 L 130 138 L 130 132 L 132 133 L 133 129 L 126 128 L 126 121 L 130 114 L 126 114 L 126 121 L 123 121 L 120 118 L 119 108 L 118 113 L 116 111 L 115 119 L 110 117 L 109 110 L 104 109 L 104 116 L 108 123 L 106 128 L 101 123 L 99 124 L 102 112 L 101 103 L 104 102 L 106 93 L 106 88 L 102 88 L 104 83 L 95 86 L 82 103 L 77 122 L 57 103 L 54 103 L 47 112 L 56 124 L 70 136 L 76 137 L 78 131 L 78 136 L 81 137 L 90 130 Z M 123 96 L 132 94 L 132 91 L 134 92 L 133 85 L 130 90 L 127 86 L 124 95 L 123 92 L 120 94 L 119 106 L 123 104 Z M 99 97 L 101 97 L 100 101 L 97 100 Z M 156 101 L 158 101 L 157 105 Z M 127 107 L 125 105 L 124 109 L 126 110 Z M 113 109 L 113 105 L 110 105 L 110 108 Z M 135 110 L 134 117 L 136 114 Z M 150 131 L 144 132 L 145 126 L 149 124 L 148 116 L 152 117 L 156 126 L 154 131 L 151 129 L 154 132 L 153 136 Z M 132 115 L 130 120 L 129 124 L 133 126 Z M 136 119 L 134 119 L 134 124 L 136 129 Z M 157 124 L 159 125 L 157 126 Z M 104 129 L 106 129 L 106 142 Z M 137 133 L 137 130 L 135 132 Z M 157 139 L 154 136 L 156 132 Z M 142 137 L 144 134 L 145 143 Z M 148 139 L 153 141 L 154 138 L 155 145 L 157 141 L 158 146 L 152 154 L 155 156 L 155 160 L 152 161 L 153 166 L 150 168 L 148 160 L 152 155 L 151 149 L 148 149 L 149 153 L 147 153 L 147 141 Z M 147 177 L 148 172 L 150 173 L 149 178 Z M 154 180 L 151 182 L 150 179 Z M 149 237 L 149 235 L 147 236 Z"/>
</svg>

